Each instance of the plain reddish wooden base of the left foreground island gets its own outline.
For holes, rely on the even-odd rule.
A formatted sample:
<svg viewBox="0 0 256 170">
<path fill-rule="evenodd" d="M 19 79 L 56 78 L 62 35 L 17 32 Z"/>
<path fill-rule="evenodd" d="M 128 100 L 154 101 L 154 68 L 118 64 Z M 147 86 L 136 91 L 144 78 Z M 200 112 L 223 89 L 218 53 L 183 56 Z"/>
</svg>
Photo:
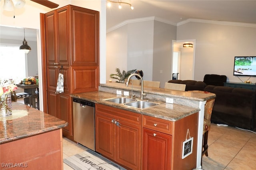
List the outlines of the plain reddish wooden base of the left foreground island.
<svg viewBox="0 0 256 170">
<path fill-rule="evenodd" d="M 62 129 L 0 144 L 0 163 L 0 170 L 62 170 Z"/>
</svg>

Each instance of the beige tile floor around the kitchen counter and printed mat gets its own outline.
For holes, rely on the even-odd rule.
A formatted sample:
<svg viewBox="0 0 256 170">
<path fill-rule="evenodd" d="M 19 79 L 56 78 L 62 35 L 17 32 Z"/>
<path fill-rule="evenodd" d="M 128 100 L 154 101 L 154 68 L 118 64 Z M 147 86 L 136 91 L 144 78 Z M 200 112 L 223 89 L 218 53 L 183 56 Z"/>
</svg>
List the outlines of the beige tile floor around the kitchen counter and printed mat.
<svg viewBox="0 0 256 170">
<path fill-rule="evenodd" d="M 208 134 L 208 157 L 203 156 L 204 170 L 255 170 L 256 134 L 235 127 L 212 124 Z M 63 159 L 87 148 L 63 138 Z M 72 170 L 65 163 L 64 170 Z"/>
</svg>

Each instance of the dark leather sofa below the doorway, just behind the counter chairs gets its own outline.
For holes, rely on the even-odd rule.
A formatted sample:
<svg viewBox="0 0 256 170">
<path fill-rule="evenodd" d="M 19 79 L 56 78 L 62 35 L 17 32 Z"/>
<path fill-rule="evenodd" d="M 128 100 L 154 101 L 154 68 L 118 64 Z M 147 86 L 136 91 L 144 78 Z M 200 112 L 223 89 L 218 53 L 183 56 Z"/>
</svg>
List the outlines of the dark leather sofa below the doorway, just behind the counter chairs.
<svg viewBox="0 0 256 170">
<path fill-rule="evenodd" d="M 195 80 L 169 80 L 168 83 L 185 84 L 186 85 L 185 91 L 190 91 L 190 90 L 204 91 L 204 88 L 206 87 L 206 83 L 202 81 L 195 81 Z"/>
</svg>

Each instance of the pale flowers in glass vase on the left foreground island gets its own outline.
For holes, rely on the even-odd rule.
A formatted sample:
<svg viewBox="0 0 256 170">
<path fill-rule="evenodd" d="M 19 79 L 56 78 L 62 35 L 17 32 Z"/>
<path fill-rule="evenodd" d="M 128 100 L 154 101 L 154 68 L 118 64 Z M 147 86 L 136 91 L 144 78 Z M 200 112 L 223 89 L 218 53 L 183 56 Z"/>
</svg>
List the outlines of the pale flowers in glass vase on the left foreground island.
<svg viewBox="0 0 256 170">
<path fill-rule="evenodd" d="M 0 79 L 0 117 L 12 114 L 12 99 L 10 93 L 17 89 L 12 80 Z"/>
</svg>

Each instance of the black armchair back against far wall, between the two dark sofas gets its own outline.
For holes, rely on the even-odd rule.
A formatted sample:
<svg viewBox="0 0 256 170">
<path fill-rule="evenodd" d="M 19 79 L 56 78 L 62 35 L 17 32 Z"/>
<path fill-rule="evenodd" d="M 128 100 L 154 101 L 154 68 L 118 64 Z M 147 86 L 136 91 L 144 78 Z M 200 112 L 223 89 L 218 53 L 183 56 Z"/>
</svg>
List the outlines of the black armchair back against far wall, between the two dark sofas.
<svg viewBox="0 0 256 170">
<path fill-rule="evenodd" d="M 204 83 L 206 83 L 206 85 L 224 86 L 224 83 L 226 82 L 227 82 L 226 75 L 217 75 L 217 74 L 204 75 Z"/>
</svg>

